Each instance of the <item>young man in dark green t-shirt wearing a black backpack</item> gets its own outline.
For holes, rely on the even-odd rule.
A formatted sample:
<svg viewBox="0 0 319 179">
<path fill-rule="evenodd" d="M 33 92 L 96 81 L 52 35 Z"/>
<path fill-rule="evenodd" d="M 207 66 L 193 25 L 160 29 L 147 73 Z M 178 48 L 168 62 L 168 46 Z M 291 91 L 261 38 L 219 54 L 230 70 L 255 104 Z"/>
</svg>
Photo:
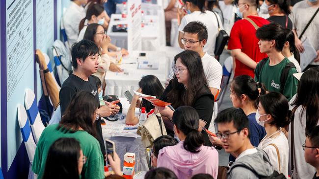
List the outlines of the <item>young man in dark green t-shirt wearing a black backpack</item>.
<svg viewBox="0 0 319 179">
<path fill-rule="evenodd" d="M 260 39 L 260 52 L 266 53 L 268 58 L 257 65 L 255 81 L 265 84 L 267 91 L 280 92 L 290 100 L 297 91 L 298 81 L 292 76 L 297 73 L 296 68 L 281 53 L 285 43 L 284 28 L 277 23 L 270 23 L 260 27 L 256 36 Z"/>
</svg>

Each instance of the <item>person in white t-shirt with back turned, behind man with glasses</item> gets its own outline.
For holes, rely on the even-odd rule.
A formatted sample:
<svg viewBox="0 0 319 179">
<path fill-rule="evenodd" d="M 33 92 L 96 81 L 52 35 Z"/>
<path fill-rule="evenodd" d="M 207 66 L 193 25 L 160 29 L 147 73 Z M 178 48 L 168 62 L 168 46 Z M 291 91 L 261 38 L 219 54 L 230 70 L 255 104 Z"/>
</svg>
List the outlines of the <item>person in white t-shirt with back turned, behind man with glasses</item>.
<svg viewBox="0 0 319 179">
<path fill-rule="evenodd" d="M 178 42 L 181 48 L 184 48 L 183 43 L 181 43 L 180 39 L 183 38 L 184 36 L 184 27 L 192 21 L 200 21 L 203 22 L 204 25 L 207 27 L 208 31 L 208 38 L 207 42 L 204 46 L 204 51 L 207 52 L 211 56 L 214 55 L 214 50 L 215 50 L 215 43 L 216 43 L 216 37 L 218 35 L 218 23 L 219 22 L 219 27 L 220 29 L 223 29 L 223 24 L 217 14 L 214 14 L 212 11 L 205 11 L 204 10 L 204 3 L 198 3 L 197 0 L 183 0 L 185 2 L 185 9 L 187 9 L 188 13 L 187 15 L 180 14 L 179 17 L 182 19 L 180 26 L 178 27 L 179 31 L 179 38 Z"/>
</svg>

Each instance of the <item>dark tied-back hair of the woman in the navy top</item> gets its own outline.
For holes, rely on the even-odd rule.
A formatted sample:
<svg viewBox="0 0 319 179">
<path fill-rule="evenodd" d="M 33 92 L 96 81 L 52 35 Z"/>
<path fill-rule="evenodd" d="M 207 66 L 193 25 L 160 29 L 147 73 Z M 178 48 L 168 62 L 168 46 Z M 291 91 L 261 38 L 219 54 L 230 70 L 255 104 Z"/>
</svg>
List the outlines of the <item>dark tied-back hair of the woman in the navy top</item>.
<svg viewBox="0 0 319 179">
<path fill-rule="evenodd" d="M 261 89 L 260 94 L 258 88 Z M 266 94 L 266 87 L 263 83 L 257 83 L 251 76 L 240 75 L 234 78 L 231 84 L 233 93 L 239 98 L 241 94 L 248 96 L 251 102 L 254 103 L 255 109 L 258 108 L 259 96 Z"/>
</svg>

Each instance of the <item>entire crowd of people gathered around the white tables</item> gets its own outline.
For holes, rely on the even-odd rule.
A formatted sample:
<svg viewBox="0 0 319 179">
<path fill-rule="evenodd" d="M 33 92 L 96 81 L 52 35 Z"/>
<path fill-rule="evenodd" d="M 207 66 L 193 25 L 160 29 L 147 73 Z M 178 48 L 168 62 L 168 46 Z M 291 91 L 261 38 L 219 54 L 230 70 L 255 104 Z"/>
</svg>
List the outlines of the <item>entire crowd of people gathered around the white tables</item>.
<svg viewBox="0 0 319 179">
<path fill-rule="evenodd" d="M 120 111 L 102 98 L 106 71 L 122 72 L 113 58 L 119 48 L 129 55 L 106 34 L 116 3 L 122 1 L 71 0 L 63 15 L 74 71 L 59 91 L 61 121 L 46 127 L 37 143 L 32 171 L 39 179 L 123 179 L 120 157 L 106 156 L 101 128 L 101 117 Z M 178 18 L 184 51 L 175 55 L 165 84 L 145 74 L 137 91 L 171 107 L 134 94 L 125 119 L 138 124 L 135 108 L 142 107 L 163 119 L 167 135 L 154 138 L 145 179 L 223 178 L 220 148 L 229 153 L 224 178 L 319 179 L 319 0 L 167 4 L 166 21 Z M 218 24 L 229 33 L 233 107 L 214 118 L 214 101 L 226 90 L 220 89 L 223 69 L 214 54 Z M 302 69 L 305 39 L 317 57 Z M 215 134 L 203 130 L 211 125 Z M 105 172 L 106 160 L 112 172 Z"/>
</svg>

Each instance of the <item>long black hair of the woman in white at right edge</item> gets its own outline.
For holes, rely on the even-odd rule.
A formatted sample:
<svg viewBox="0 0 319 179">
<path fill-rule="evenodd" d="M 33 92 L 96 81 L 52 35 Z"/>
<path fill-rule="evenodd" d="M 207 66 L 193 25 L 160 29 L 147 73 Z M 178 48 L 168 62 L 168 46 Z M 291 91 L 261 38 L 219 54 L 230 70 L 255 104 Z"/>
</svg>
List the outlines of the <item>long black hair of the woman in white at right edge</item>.
<svg viewBox="0 0 319 179">
<path fill-rule="evenodd" d="M 306 110 L 306 133 L 317 126 L 319 121 L 319 67 L 306 70 L 297 89 L 296 99 L 292 105 L 302 106 L 302 113 Z"/>
</svg>

